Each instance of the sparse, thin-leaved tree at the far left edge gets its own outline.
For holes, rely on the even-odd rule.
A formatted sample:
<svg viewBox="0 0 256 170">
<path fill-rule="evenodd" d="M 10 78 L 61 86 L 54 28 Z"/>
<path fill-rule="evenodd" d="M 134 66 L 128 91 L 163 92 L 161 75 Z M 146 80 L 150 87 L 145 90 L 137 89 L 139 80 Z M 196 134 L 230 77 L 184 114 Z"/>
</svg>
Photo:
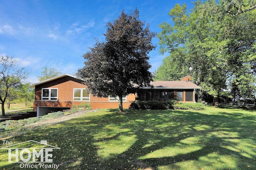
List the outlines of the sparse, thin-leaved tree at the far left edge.
<svg viewBox="0 0 256 170">
<path fill-rule="evenodd" d="M 0 104 L 2 115 L 5 115 L 4 104 L 10 100 L 13 90 L 17 89 L 25 81 L 28 72 L 19 68 L 17 61 L 10 56 L 0 57 Z"/>
</svg>

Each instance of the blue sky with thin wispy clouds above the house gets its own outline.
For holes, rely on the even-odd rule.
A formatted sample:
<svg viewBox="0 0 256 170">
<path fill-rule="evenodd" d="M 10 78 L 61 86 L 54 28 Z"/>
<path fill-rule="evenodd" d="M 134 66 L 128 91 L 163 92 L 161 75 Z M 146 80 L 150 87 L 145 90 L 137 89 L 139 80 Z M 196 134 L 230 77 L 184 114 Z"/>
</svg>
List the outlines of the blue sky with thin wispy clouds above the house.
<svg viewBox="0 0 256 170">
<path fill-rule="evenodd" d="M 0 0 L 0 55 L 18 60 L 29 72 L 28 81 L 38 82 L 43 67 L 54 67 L 74 74 L 84 66 L 82 55 L 104 41 L 106 23 L 113 22 L 137 7 L 140 20 L 150 30 L 161 31 L 160 23 L 171 23 L 168 15 L 176 3 L 193 7 L 191 0 Z M 165 56 L 157 45 L 150 52 L 150 71 L 156 70 Z"/>
</svg>

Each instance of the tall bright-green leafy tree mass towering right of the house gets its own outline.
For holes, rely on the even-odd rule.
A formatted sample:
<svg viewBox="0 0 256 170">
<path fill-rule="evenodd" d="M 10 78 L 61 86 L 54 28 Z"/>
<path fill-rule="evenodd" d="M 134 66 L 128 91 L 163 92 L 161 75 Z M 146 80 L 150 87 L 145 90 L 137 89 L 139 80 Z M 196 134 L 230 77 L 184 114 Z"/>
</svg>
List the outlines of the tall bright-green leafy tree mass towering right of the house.
<svg viewBox="0 0 256 170">
<path fill-rule="evenodd" d="M 192 66 L 194 82 L 216 101 L 225 90 L 248 97 L 255 90 L 255 8 L 256 0 L 198 0 L 188 14 L 186 4 L 176 4 L 173 24 L 160 25 L 160 52 Z"/>
</svg>

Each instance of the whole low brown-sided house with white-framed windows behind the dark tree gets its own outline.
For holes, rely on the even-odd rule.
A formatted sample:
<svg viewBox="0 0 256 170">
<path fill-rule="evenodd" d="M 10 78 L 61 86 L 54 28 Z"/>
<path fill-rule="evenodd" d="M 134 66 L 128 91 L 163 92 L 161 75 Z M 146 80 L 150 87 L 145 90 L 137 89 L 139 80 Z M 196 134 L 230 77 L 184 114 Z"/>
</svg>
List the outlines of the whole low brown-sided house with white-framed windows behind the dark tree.
<svg viewBox="0 0 256 170">
<path fill-rule="evenodd" d="M 154 88 L 141 88 L 137 94 L 123 97 L 123 107 L 128 108 L 135 99 L 160 101 L 175 99 L 181 102 L 195 102 L 194 91 L 200 88 L 189 80 L 155 81 L 152 85 Z M 116 96 L 108 98 L 93 96 L 88 92 L 83 80 L 69 74 L 49 78 L 30 87 L 35 88 L 34 111 L 37 111 L 37 116 L 75 107 L 90 106 L 92 109 L 118 107 Z"/>
</svg>

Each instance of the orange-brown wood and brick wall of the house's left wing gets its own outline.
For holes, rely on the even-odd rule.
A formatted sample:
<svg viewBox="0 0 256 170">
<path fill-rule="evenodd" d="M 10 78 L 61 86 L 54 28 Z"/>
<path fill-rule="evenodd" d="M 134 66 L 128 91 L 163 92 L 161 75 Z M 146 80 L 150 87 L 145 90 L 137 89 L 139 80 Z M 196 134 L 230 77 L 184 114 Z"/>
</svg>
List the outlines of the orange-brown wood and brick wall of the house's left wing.
<svg viewBox="0 0 256 170">
<path fill-rule="evenodd" d="M 42 97 L 42 88 L 58 88 L 58 100 L 49 101 L 41 100 Z M 45 107 L 71 107 L 83 105 L 84 103 L 90 103 L 92 109 L 97 108 L 117 108 L 118 101 L 110 102 L 109 98 L 99 98 L 90 94 L 90 101 L 73 101 L 73 89 L 74 88 L 87 88 L 83 84 L 82 80 L 72 78 L 70 76 L 62 77 L 57 80 L 46 82 L 35 87 L 35 101 L 34 101 L 34 110 L 38 106 Z M 132 101 L 135 100 L 134 94 L 129 94 L 126 96 L 126 102 L 123 102 L 123 107 L 128 108 Z"/>
</svg>

